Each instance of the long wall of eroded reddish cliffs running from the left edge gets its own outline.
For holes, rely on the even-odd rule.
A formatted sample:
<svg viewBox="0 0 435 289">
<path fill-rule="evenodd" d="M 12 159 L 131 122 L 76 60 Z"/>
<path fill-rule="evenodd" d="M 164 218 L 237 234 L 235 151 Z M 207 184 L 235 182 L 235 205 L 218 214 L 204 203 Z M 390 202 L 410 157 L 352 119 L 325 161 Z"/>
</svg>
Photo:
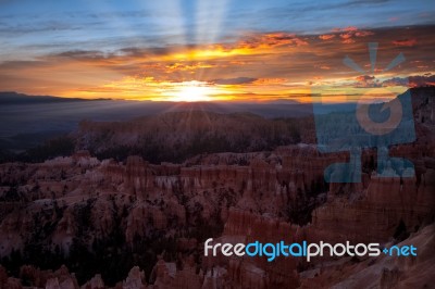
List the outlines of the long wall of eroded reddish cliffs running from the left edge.
<svg viewBox="0 0 435 289">
<path fill-rule="evenodd" d="M 322 175 L 320 169 L 282 165 L 281 159 L 261 155 L 246 166 L 151 165 L 140 156 L 129 156 L 123 164 L 79 152 L 40 164 L 3 164 L 1 253 L 26 241 L 28 234 L 20 233 L 30 231 L 35 215 L 55 222 L 47 237 L 60 242 L 74 236 L 79 229 L 75 213 L 85 209 L 97 236 L 113 227 L 113 213 L 125 214 L 127 231 L 139 234 L 148 222 L 157 229 L 195 225 L 198 218 L 214 217 L 223 224 L 232 206 L 284 219 L 287 204 L 307 193 Z"/>
</svg>

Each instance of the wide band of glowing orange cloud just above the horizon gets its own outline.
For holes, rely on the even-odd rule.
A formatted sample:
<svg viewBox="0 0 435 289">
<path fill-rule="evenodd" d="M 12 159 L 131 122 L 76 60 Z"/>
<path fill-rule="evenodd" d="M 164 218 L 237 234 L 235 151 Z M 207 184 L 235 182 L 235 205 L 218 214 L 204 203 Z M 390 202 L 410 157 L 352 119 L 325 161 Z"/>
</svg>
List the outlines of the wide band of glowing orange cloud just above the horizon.
<svg viewBox="0 0 435 289">
<path fill-rule="evenodd" d="M 419 39 L 421 48 L 433 47 L 435 42 L 430 37 L 433 26 L 373 32 L 351 26 L 310 36 L 251 33 L 212 45 L 123 48 L 109 52 L 64 51 L 33 61 L 0 63 L 0 87 L 30 95 L 152 100 L 170 98 L 163 95 L 165 91 L 181 96 L 208 90 L 213 97 L 220 93 L 229 98 L 231 92 L 237 100 L 250 97 L 266 100 L 307 90 L 308 84 L 355 87 L 355 72 L 343 65 L 343 58 L 348 54 L 369 70 L 363 37 L 375 34 L 376 38 L 371 40 L 380 42 L 380 61 L 385 62 L 397 55 L 395 46 L 415 45 L 413 38 Z M 396 40 L 397 35 L 408 39 Z M 430 50 L 420 47 L 407 52 L 407 61 L 412 65 L 400 65 L 391 73 L 398 70 L 401 75 L 434 72 L 435 61 Z M 380 63 L 375 75 L 384 64 L 387 65 Z M 369 80 L 358 81 L 358 85 Z M 201 84 L 195 88 L 191 81 Z M 190 89 L 188 85 L 191 84 Z M 181 87 L 186 91 L 181 91 Z"/>
</svg>

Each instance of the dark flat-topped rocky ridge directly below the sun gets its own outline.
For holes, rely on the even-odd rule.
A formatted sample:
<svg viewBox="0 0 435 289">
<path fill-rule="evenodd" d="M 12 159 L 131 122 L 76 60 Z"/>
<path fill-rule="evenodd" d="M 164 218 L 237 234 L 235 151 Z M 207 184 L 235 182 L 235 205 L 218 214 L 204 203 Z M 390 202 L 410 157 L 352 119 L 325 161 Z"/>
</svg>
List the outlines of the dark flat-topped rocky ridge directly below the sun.
<svg viewBox="0 0 435 289">
<path fill-rule="evenodd" d="M 204 152 L 250 152 L 295 143 L 291 120 L 266 120 L 251 113 L 167 112 L 129 122 L 79 123 L 72 134 L 78 150 L 124 160 L 138 154 L 152 163 L 183 162 Z"/>
</svg>

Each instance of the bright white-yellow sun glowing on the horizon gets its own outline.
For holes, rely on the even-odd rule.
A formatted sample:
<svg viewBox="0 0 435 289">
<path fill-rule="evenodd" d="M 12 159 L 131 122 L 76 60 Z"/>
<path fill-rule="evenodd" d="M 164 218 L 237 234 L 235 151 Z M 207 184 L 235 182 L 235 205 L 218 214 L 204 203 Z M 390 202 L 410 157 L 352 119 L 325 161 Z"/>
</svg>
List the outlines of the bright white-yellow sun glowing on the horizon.
<svg viewBox="0 0 435 289">
<path fill-rule="evenodd" d="M 163 95 L 167 96 L 169 101 L 212 101 L 214 89 L 203 81 L 183 81 L 175 85 L 170 91 Z"/>
</svg>

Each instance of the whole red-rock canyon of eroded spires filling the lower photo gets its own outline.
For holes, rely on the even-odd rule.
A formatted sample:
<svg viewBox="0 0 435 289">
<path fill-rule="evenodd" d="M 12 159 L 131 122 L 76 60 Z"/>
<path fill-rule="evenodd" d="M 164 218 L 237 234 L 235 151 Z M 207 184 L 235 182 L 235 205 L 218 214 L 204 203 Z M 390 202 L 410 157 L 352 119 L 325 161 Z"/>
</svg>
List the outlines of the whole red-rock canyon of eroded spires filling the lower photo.
<svg viewBox="0 0 435 289">
<path fill-rule="evenodd" d="M 302 128 L 295 144 L 285 144 L 296 142 L 293 126 L 245 114 L 212 114 L 219 127 L 204 122 L 211 114 L 203 113 L 166 114 L 136 125 L 82 123 L 71 136 L 76 140 L 72 155 L 0 164 L 0 288 L 396 288 L 399 280 L 403 288 L 430 288 L 435 264 L 434 92 L 412 91 L 417 140 L 389 150 L 412 161 L 415 174 L 378 175 L 377 152 L 369 149 L 362 153 L 362 181 L 356 184 L 325 183 L 324 169 L 349 156 L 320 153 L 309 120 L 298 121 Z M 183 123 L 186 116 L 195 121 Z M 246 123 L 237 126 L 239 117 Z M 223 148 L 231 143 L 233 152 L 213 152 L 204 139 L 215 143 L 212 136 L 226 130 Z M 183 154 L 188 158 L 181 162 L 162 161 L 166 154 L 152 162 L 142 154 L 101 156 L 116 143 L 125 148 L 147 141 L 161 143 L 159 152 L 186 151 L 181 139 L 191 143 L 197 134 L 201 149 Z M 145 137 L 138 142 L 138 136 Z M 240 150 L 234 149 L 240 143 Z M 271 263 L 265 257 L 206 257 L 208 238 L 414 243 L 420 251 L 410 259 L 324 256 L 307 263 L 278 257 Z"/>
</svg>

